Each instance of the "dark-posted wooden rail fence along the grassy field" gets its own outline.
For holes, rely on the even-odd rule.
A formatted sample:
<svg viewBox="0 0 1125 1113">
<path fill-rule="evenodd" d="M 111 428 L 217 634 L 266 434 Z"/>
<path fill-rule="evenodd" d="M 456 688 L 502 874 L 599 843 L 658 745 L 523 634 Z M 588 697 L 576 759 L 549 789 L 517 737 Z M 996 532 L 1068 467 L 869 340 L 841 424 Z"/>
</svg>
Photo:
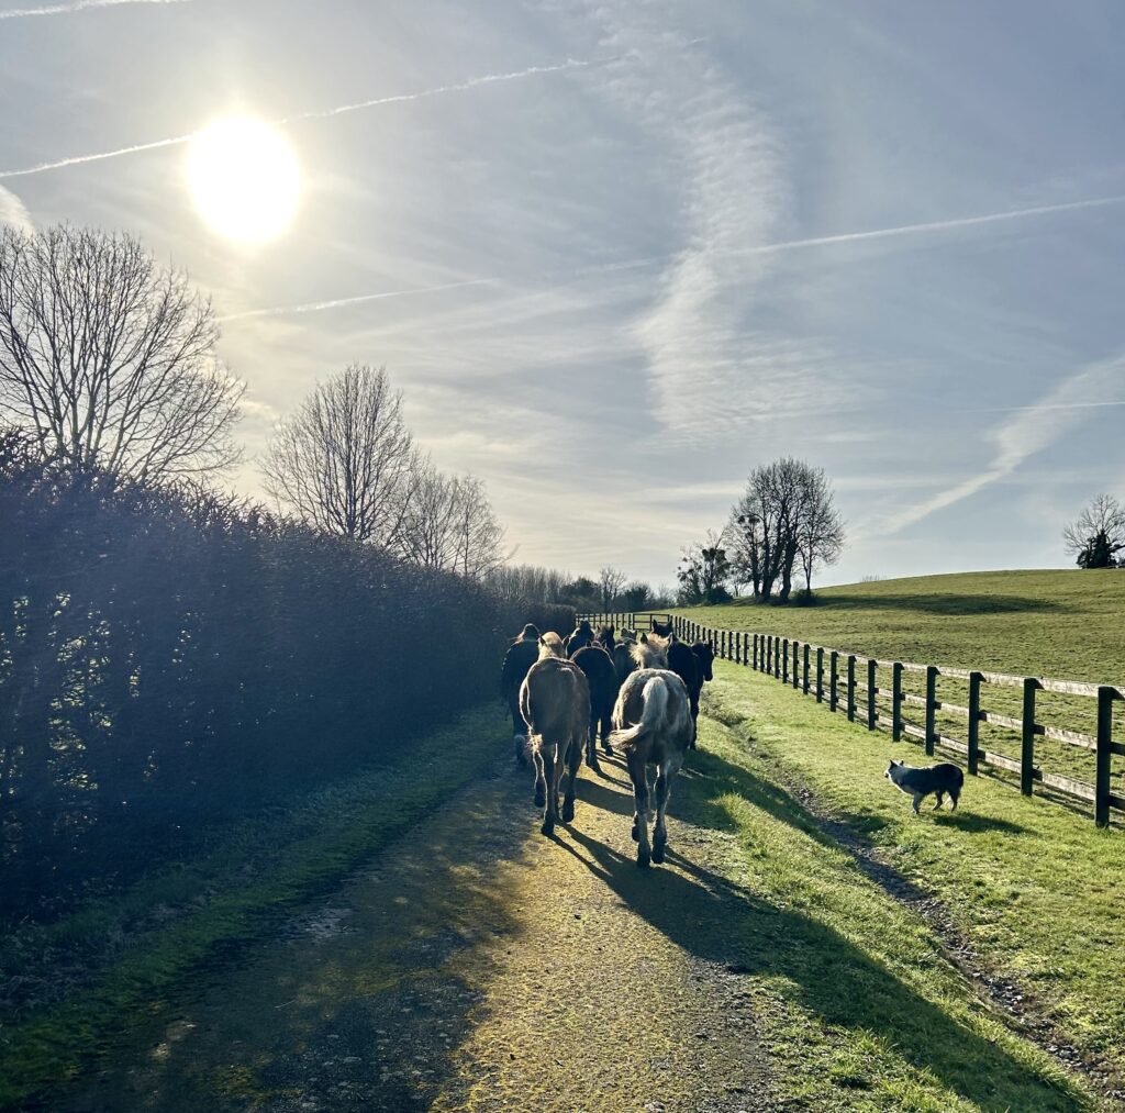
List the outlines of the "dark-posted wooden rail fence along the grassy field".
<svg viewBox="0 0 1125 1113">
<path fill-rule="evenodd" d="M 746 630 L 722 630 L 703 626 L 681 614 L 629 611 L 604 614 L 582 614 L 592 625 L 628 627 L 648 631 L 659 622 L 673 625 L 676 636 L 684 641 L 709 641 L 716 656 L 746 665 L 764 675 L 774 676 L 783 684 L 806 695 L 813 695 L 818 703 L 832 713 L 844 713 L 849 722 L 864 722 L 868 730 L 888 730 L 894 742 L 909 738 L 920 744 L 927 754 L 938 748 L 951 751 L 964 761 L 973 777 L 981 765 L 1001 769 L 1019 777 L 1019 788 L 1025 796 L 1042 784 L 1062 796 L 1094 805 L 1094 818 L 1099 827 L 1109 823 L 1110 810 L 1125 813 L 1125 796 L 1113 791 L 1112 759 L 1125 756 L 1125 744 L 1114 738 L 1114 704 L 1125 700 L 1125 686 L 1091 684 L 1081 681 L 1050 680 L 1043 676 L 1012 676 L 1007 673 L 983 672 L 972 668 L 951 668 L 944 665 L 920 665 L 904 661 L 881 661 L 861 654 L 846 653 L 827 646 L 812 645 L 796 638 L 776 634 L 753 634 Z M 827 666 L 826 666 L 827 662 Z M 840 663 L 844 674 L 840 676 Z M 880 670 L 890 673 L 890 686 L 880 684 Z M 924 677 L 925 694 L 904 690 L 904 674 Z M 827 675 L 827 689 L 826 689 Z M 938 685 L 943 680 L 968 685 L 968 706 L 940 699 Z M 982 706 L 987 688 L 1018 689 L 1020 713 L 1005 715 Z M 826 699 L 827 691 L 827 699 Z M 1079 697 L 1096 701 L 1094 734 L 1063 729 L 1037 721 L 1041 692 Z M 861 694 L 862 693 L 862 694 Z M 880 713 L 883 709 L 889 713 Z M 922 710 L 922 721 L 906 717 L 904 709 Z M 940 712 L 965 724 L 963 738 L 943 734 L 937 722 Z M 981 746 L 980 725 L 1018 735 L 1019 759 L 986 750 Z M 1036 739 L 1050 738 L 1064 745 L 1094 754 L 1094 782 L 1076 780 L 1061 773 L 1047 772 L 1036 764 Z"/>
</svg>

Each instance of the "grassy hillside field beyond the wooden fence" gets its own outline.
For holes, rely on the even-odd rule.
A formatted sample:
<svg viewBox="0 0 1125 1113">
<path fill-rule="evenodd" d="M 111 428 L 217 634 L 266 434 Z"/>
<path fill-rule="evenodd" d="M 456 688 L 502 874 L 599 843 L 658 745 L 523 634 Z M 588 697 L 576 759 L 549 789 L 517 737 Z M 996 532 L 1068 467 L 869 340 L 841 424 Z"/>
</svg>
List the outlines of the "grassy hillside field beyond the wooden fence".
<svg viewBox="0 0 1125 1113">
<path fill-rule="evenodd" d="M 1125 572 L 1118 569 L 915 576 L 827 587 L 817 598 L 813 607 L 738 601 L 680 613 L 719 629 L 775 634 L 884 661 L 1125 685 Z M 891 686 L 889 668 L 879 671 L 878 683 Z M 862 695 L 862 676 L 858 686 Z M 903 690 L 924 695 L 924 674 L 904 673 Z M 968 684 L 942 679 L 937 697 L 964 707 Z M 981 706 L 1015 719 L 1022 713 L 1020 699 L 1018 688 L 986 684 Z M 878 708 L 890 717 L 888 698 L 880 697 Z M 908 706 L 903 713 L 921 726 L 920 708 Z M 1092 735 L 1096 701 L 1040 693 L 1036 721 Z M 1115 721 L 1115 737 L 1123 740 L 1125 704 L 1117 706 Z M 964 740 L 965 721 L 955 715 L 939 712 L 937 729 Z M 990 752 L 1012 760 L 1020 755 L 1018 733 L 1006 727 L 981 724 L 980 740 Z M 1094 781 L 1094 755 L 1066 743 L 1037 739 L 1036 764 Z M 1112 762 L 1112 781 L 1114 791 L 1125 791 L 1125 760 L 1119 756 Z"/>
</svg>

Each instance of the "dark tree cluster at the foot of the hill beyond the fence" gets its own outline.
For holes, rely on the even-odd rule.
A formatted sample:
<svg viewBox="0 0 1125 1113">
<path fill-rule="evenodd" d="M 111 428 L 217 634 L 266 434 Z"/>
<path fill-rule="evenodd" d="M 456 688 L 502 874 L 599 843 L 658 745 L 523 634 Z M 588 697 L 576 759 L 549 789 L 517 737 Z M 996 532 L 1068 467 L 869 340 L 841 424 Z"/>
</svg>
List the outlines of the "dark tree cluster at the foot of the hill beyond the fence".
<svg viewBox="0 0 1125 1113">
<path fill-rule="evenodd" d="M 786 603 L 794 575 L 812 577 L 844 549 L 844 520 L 824 468 L 785 457 L 756 467 L 721 533 L 691 546 L 680 563 L 680 602 L 721 603 L 731 589 L 763 603 Z"/>
</svg>

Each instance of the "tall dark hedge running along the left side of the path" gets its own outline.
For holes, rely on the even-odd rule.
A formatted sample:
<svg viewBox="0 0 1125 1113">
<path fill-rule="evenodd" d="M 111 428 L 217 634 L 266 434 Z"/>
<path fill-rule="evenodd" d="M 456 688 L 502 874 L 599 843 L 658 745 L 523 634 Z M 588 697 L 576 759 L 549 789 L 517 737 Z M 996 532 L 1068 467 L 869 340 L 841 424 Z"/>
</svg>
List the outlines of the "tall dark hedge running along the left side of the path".
<svg viewBox="0 0 1125 1113">
<path fill-rule="evenodd" d="M 379 549 L 0 439 L 4 910 L 408 745 L 492 695 L 520 619 Z"/>
</svg>

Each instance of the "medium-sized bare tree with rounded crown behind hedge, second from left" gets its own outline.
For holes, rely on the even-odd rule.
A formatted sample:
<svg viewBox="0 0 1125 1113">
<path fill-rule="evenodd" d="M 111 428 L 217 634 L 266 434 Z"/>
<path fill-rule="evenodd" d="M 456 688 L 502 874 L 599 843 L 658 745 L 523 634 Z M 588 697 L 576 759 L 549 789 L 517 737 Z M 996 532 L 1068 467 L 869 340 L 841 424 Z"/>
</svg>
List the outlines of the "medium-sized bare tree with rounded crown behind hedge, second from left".
<svg viewBox="0 0 1125 1113">
<path fill-rule="evenodd" d="M 394 548 L 424 466 L 387 373 L 351 365 L 274 430 L 266 490 L 330 533 Z"/>
</svg>

